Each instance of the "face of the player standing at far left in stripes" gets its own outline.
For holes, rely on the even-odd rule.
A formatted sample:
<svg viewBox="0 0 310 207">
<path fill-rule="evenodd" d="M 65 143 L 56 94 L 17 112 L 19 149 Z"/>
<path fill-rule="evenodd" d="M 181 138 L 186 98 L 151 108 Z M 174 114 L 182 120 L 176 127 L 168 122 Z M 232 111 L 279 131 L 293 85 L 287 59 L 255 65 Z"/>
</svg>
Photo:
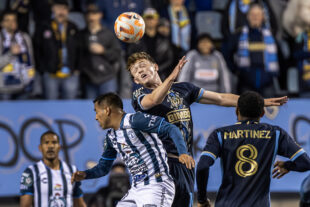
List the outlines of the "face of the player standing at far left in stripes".
<svg viewBox="0 0 310 207">
<path fill-rule="evenodd" d="M 44 159 L 56 159 L 60 150 L 60 144 L 57 136 L 54 134 L 45 135 L 42 139 L 39 149 L 42 152 Z"/>
</svg>

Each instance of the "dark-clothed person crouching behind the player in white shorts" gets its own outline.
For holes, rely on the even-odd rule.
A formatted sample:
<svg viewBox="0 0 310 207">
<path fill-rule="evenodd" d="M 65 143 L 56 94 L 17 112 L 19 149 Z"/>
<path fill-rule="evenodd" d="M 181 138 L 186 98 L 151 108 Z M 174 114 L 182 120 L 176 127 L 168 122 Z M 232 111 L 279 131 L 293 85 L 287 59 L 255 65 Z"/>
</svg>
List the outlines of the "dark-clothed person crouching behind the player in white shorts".
<svg viewBox="0 0 310 207">
<path fill-rule="evenodd" d="M 126 165 L 122 162 L 113 164 L 109 176 L 109 184 L 97 191 L 90 199 L 90 207 L 115 207 L 130 188 Z"/>
</svg>

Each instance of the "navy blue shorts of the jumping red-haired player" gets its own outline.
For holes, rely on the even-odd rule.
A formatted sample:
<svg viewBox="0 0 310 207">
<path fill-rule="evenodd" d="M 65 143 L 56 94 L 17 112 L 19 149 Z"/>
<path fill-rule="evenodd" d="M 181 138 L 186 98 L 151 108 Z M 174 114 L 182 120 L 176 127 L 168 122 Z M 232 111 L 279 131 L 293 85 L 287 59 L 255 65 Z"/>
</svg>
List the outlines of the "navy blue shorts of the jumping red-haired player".
<svg viewBox="0 0 310 207">
<path fill-rule="evenodd" d="M 170 175 L 175 183 L 172 207 L 192 207 L 194 201 L 195 169 L 187 169 L 177 158 L 168 157 Z"/>
</svg>

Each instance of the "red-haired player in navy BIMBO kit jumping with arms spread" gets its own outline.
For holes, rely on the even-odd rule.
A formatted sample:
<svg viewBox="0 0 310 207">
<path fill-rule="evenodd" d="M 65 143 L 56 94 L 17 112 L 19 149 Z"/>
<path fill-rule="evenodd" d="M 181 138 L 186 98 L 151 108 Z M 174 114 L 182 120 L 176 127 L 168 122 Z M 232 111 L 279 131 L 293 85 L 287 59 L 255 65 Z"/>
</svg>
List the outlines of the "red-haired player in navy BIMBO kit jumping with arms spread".
<svg viewBox="0 0 310 207">
<path fill-rule="evenodd" d="M 216 93 L 198 88 L 187 82 L 175 83 L 187 60 L 183 57 L 170 76 L 161 81 L 158 65 L 145 52 L 132 54 L 127 69 L 137 84 L 134 87 L 132 105 L 136 111 L 165 117 L 175 124 L 183 135 L 188 152 L 192 154 L 193 123 L 190 105 L 194 102 L 219 106 L 236 106 L 238 97 L 234 94 Z M 265 99 L 265 106 L 282 105 L 287 97 Z M 175 180 L 176 195 L 173 207 L 192 206 L 194 191 L 194 169 L 187 169 L 178 162 L 177 151 L 169 136 L 161 137 L 168 153 L 170 173 Z"/>
</svg>

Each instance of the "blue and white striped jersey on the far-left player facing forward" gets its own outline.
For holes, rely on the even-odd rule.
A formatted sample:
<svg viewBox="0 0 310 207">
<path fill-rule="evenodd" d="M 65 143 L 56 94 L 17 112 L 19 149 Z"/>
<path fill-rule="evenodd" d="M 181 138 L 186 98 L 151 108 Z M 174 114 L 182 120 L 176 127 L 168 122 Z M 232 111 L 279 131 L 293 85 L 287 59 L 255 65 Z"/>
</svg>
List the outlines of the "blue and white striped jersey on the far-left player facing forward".
<svg viewBox="0 0 310 207">
<path fill-rule="evenodd" d="M 34 206 L 73 206 L 72 198 L 83 196 L 80 182 L 71 184 L 76 167 L 60 162 L 60 170 L 52 170 L 43 161 L 30 165 L 22 174 L 21 195 L 34 196 Z"/>
</svg>

